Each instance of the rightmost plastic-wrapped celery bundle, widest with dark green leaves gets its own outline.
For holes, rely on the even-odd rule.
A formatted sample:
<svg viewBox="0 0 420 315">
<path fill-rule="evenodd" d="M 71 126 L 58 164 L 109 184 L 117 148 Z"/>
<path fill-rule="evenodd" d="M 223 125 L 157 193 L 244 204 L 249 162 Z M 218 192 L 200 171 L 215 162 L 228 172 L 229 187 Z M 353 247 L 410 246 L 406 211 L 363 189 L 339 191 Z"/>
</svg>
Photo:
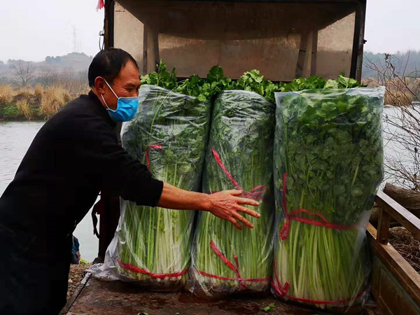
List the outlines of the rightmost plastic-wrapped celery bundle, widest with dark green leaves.
<svg viewBox="0 0 420 315">
<path fill-rule="evenodd" d="M 365 299 L 365 228 L 383 178 L 383 97 L 382 87 L 276 93 L 277 296 L 318 307 Z"/>
</svg>

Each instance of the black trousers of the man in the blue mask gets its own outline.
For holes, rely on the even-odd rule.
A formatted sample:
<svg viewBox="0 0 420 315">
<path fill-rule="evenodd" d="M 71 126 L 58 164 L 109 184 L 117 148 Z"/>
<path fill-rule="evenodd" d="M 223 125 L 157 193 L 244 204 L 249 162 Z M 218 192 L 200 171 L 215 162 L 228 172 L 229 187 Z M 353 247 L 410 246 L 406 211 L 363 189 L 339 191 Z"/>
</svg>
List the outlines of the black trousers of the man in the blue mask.
<svg viewBox="0 0 420 315">
<path fill-rule="evenodd" d="M 50 252 L 39 260 L 5 239 L 0 231 L 0 314 L 59 314 L 66 304 L 71 246 L 64 244 L 64 253 Z"/>
</svg>

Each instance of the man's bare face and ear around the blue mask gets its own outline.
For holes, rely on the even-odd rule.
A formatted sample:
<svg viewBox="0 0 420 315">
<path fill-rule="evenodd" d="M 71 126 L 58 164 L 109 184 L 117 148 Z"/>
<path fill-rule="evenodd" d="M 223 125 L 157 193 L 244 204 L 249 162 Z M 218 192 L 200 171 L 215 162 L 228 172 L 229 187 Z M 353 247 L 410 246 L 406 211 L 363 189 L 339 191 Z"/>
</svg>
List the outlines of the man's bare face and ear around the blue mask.
<svg viewBox="0 0 420 315">
<path fill-rule="evenodd" d="M 109 85 L 111 85 L 118 97 L 138 97 L 141 83 L 139 71 L 134 65 L 134 62 L 127 62 L 120 73 L 118 73 L 118 76 L 113 80 L 113 83 L 109 82 Z M 110 109 L 116 110 L 118 99 L 105 82 L 102 88 L 106 104 Z"/>
</svg>

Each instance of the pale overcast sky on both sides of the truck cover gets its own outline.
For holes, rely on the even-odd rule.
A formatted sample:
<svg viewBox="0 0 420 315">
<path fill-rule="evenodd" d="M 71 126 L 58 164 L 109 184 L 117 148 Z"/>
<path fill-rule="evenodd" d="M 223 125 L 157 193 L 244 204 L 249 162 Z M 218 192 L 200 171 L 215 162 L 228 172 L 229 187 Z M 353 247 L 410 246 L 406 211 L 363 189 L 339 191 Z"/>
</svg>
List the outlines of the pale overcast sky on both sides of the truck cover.
<svg viewBox="0 0 420 315">
<path fill-rule="evenodd" d="M 97 0 L 14 0 L 0 4 L 0 60 L 42 61 L 47 55 L 99 50 L 104 10 Z M 420 50 L 419 0 L 367 0 L 365 50 Z"/>
</svg>

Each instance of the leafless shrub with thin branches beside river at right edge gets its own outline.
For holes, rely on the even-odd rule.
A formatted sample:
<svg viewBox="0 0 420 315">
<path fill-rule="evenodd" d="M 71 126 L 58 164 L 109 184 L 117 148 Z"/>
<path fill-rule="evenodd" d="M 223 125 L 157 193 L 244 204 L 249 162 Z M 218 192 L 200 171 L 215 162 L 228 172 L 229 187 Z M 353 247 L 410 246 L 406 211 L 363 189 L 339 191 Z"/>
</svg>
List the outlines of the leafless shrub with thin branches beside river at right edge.
<svg viewBox="0 0 420 315">
<path fill-rule="evenodd" d="M 384 138 L 388 155 L 385 158 L 386 180 L 399 186 L 420 191 L 420 72 L 395 71 L 395 57 L 386 54 L 384 62 L 365 58 L 365 66 L 376 73 L 366 79 L 369 85 L 386 87 L 385 104 L 393 108 L 384 114 Z"/>
</svg>

